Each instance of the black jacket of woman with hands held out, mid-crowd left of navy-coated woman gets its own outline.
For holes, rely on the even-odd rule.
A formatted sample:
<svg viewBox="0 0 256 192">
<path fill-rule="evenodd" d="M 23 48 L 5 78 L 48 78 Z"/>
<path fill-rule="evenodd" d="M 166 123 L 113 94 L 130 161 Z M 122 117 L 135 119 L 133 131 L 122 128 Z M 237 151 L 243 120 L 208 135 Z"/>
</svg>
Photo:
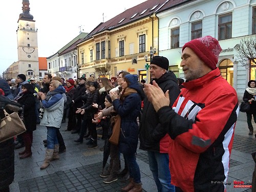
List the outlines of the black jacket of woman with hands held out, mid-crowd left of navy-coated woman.
<svg viewBox="0 0 256 192">
<path fill-rule="evenodd" d="M 95 90 L 93 93 L 90 92 L 87 95 L 86 103 L 81 107 L 86 112 L 84 115 L 87 117 L 93 118 L 94 114 L 98 112 L 98 109 L 92 106 L 93 103 L 99 103 L 99 90 Z"/>
</svg>

